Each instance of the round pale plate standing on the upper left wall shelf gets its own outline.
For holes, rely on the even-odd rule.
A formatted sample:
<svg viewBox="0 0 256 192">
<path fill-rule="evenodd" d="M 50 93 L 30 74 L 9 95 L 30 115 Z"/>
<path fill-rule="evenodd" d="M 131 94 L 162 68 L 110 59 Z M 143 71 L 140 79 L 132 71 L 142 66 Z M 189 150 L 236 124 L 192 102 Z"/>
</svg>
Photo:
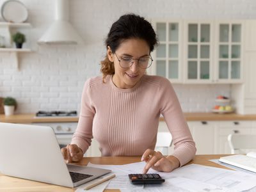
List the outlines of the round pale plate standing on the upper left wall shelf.
<svg viewBox="0 0 256 192">
<path fill-rule="evenodd" d="M 28 10 L 20 1 L 8 0 L 3 3 L 1 15 L 6 22 L 24 22 L 28 19 Z"/>
</svg>

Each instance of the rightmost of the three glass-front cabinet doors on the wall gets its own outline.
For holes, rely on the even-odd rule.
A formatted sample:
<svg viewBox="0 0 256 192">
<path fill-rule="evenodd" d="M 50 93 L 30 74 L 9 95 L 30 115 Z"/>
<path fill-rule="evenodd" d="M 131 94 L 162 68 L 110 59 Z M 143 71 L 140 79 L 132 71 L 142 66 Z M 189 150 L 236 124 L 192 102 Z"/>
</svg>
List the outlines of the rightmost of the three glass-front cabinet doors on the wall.
<svg viewBox="0 0 256 192">
<path fill-rule="evenodd" d="M 223 83 L 241 82 L 242 23 L 218 24 L 216 79 Z"/>
</svg>

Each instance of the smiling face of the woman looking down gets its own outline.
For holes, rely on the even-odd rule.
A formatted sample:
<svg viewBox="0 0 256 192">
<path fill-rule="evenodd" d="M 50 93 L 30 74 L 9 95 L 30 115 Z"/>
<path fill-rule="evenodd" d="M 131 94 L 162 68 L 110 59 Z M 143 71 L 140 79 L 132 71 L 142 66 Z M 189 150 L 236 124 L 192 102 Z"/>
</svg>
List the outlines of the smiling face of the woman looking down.
<svg viewBox="0 0 256 192">
<path fill-rule="evenodd" d="M 113 75 L 113 83 L 118 88 L 132 88 L 135 86 L 140 78 L 145 74 L 145 68 L 141 68 L 138 65 L 138 60 L 134 60 L 134 63 L 129 68 L 122 68 L 118 61 L 124 57 L 131 57 L 134 59 L 141 58 L 143 56 L 150 56 L 150 49 L 145 40 L 139 38 L 131 38 L 124 40 L 113 53 L 108 47 L 108 58 L 111 62 L 114 62 L 115 74 Z"/>
</svg>

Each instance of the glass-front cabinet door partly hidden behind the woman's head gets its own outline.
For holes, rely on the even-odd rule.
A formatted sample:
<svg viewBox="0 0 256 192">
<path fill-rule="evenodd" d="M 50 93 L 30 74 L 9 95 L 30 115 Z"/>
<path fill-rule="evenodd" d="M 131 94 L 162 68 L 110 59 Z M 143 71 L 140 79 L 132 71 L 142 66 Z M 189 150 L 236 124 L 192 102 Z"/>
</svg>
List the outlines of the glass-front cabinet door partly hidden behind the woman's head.
<svg viewBox="0 0 256 192">
<path fill-rule="evenodd" d="M 154 22 L 159 45 L 153 53 L 152 73 L 182 83 L 181 24 L 179 21 Z"/>
</svg>

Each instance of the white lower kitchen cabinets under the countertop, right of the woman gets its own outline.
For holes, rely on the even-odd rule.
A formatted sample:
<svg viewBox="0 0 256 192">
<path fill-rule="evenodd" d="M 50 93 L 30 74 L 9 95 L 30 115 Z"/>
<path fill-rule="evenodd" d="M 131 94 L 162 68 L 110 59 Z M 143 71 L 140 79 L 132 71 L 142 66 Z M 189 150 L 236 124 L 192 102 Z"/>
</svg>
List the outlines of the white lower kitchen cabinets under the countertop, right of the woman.
<svg viewBox="0 0 256 192">
<path fill-rule="evenodd" d="M 230 154 L 228 134 L 256 135 L 256 121 L 190 121 L 188 122 L 196 154 Z M 168 132 L 165 122 L 159 122 L 161 132 Z M 173 152 L 173 146 L 169 154 Z"/>
</svg>

